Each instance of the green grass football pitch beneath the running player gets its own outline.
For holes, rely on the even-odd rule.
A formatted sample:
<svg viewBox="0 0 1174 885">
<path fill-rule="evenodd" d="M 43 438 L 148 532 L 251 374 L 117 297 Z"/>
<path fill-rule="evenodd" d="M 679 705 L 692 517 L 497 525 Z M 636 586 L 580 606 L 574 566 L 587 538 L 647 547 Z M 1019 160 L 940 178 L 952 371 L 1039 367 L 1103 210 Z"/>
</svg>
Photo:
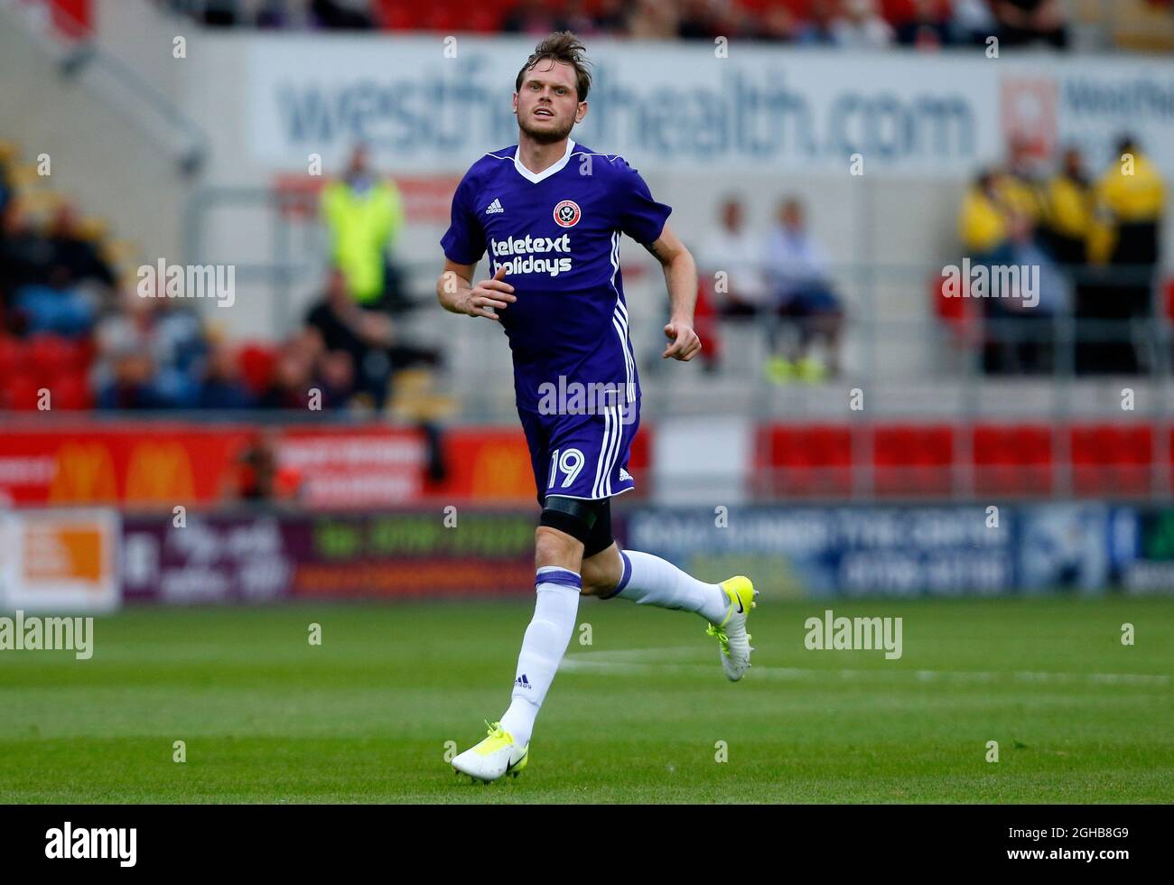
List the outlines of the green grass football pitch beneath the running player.
<svg viewBox="0 0 1174 885">
<path fill-rule="evenodd" d="M 807 650 L 825 607 L 903 617 L 903 657 Z M 531 610 L 134 609 L 90 661 L 0 653 L 0 802 L 1174 802 L 1172 599 L 764 600 L 737 684 L 696 615 L 585 601 L 529 766 L 457 779 Z"/>
</svg>

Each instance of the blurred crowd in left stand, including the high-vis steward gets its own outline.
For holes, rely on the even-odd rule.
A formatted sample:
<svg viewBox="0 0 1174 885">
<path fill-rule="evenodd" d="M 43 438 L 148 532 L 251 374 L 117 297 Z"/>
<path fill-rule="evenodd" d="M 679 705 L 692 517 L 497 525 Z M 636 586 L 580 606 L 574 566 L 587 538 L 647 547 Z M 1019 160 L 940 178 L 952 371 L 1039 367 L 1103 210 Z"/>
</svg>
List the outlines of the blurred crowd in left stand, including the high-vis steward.
<svg viewBox="0 0 1174 885">
<path fill-rule="evenodd" d="M 18 168 L 5 143 L 0 407 L 383 410 L 397 371 L 438 363 L 400 335 L 411 300 L 389 250 L 403 211 L 363 149 L 323 189 L 326 279 L 299 330 L 276 346 L 234 340 L 215 313 L 166 297 L 153 265 L 119 255 L 104 223 L 80 218 Z"/>
</svg>

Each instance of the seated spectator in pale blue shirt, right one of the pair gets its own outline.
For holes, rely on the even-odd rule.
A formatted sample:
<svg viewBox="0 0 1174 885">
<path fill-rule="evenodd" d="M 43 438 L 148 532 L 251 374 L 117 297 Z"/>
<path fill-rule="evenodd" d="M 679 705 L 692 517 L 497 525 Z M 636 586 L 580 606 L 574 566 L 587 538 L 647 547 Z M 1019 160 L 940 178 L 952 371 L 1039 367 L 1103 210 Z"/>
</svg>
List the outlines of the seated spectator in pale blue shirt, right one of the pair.
<svg viewBox="0 0 1174 885">
<path fill-rule="evenodd" d="M 764 269 L 778 316 L 795 327 L 797 339 L 772 343 L 775 356 L 767 377 L 778 384 L 791 379 L 818 381 L 839 373 L 839 332 L 843 309 L 831 288 L 828 255 L 807 229 L 803 204 L 788 197 L 780 203 L 777 223 L 767 236 Z M 811 354 L 822 339 L 824 360 Z"/>
</svg>

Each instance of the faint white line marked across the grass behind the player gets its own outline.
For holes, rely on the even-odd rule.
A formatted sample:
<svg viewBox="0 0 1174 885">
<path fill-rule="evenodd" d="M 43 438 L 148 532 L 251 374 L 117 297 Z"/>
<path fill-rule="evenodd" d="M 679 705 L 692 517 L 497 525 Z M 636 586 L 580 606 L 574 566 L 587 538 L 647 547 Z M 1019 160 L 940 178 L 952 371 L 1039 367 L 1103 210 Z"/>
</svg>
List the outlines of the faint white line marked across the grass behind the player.
<svg viewBox="0 0 1174 885">
<path fill-rule="evenodd" d="M 695 657 L 691 649 L 660 648 L 642 650 L 621 651 L 582 651 L 567 655 L 562 660 L 560 670 L 568 671 L 608 671 L 620 676 L 648 676 L 655 674 L 707 674 L 714 668 L 709 664 L 697 663 L 657 663 L 649 658 L 673 658 Z M 609 660 L 596 660 L 606 657 Z M 620 660 L 614 660 L 620 658 Z M 892 676 L 911 676 L 918 682 L 1000 682 L 1012 680 L 1014 682 L 1048 682 L 1048 683 L 1079 683 L 1085 682 L 1098 685 L 1169 685 L 1170 677 L 1166 674 L 1142 674 L 1142 673 L 1048 673 L 1035 670 L 1012 670 L 996 673 L 990 670 L 865 670 L 865 669 L 839 669 L 824 670 L 799 667 L 753 667 L 751 677 L 772 680 L 811 680 L 821 676 L 838 677 L 845 682 L 855 680 L 891 678 Z"/>
</svg>

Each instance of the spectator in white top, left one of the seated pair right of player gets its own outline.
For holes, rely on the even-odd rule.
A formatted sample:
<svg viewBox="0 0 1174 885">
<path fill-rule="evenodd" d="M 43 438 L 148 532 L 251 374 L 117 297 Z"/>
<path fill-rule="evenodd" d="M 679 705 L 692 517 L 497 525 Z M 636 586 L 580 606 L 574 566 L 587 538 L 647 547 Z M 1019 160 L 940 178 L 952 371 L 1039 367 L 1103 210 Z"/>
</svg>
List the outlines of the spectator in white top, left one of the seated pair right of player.
<svg viewBox="0 0 1174 885">
<path fill-rule="evenodd" d="M 697 252 L 697 264 L 707 286 L 713 281 L 717 311 L 723 317 L 755 317 L 768 310 L 762 250 L 762 238 L 747 230 L 742 201 L 727 197 L 718 225 L 709 231 Z"/>
</svg>

